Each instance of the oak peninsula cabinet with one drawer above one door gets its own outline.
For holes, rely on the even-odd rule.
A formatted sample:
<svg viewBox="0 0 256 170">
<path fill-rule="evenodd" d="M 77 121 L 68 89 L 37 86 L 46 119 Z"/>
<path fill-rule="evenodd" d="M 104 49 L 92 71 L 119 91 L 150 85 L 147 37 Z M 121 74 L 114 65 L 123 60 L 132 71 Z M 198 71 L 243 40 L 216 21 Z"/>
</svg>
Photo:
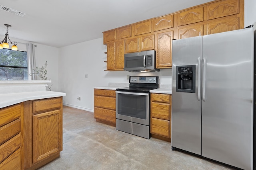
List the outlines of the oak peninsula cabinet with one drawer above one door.
<svg viewBox="0 0 256 170">
<path fill-rule="evenodd" d="M 22 168 L 36 169 L 60 157 L 62 97 L 24 102 Z"/>
</svg>

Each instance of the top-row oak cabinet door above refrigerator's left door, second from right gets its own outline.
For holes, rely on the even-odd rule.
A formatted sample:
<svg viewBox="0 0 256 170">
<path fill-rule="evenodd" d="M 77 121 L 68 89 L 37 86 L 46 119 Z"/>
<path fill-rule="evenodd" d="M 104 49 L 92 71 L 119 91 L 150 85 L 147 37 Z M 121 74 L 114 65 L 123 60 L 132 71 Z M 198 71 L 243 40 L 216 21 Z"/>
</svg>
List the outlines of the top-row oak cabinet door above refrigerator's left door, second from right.
<svg viewBox="0 0 256 170">
<path fill-rule="evenodd" d="M 178 13 L 178 25 L 186 25 L 204 20 L 204 7 Z"/>
</svg>

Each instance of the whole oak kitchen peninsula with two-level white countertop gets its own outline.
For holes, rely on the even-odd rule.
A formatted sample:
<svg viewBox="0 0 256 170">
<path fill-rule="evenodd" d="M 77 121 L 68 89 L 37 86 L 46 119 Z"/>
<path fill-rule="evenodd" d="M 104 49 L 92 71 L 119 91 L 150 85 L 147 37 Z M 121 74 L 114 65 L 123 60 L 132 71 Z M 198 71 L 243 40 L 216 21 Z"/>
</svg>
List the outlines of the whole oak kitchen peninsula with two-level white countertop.
<svg viewBox="0 0 256 170">
<path fill-rule="evenodd" d="M 51 81 L 0 81 L 0 169 L 36 169 L 62 150 L 62 96 Z"/>
</svg>

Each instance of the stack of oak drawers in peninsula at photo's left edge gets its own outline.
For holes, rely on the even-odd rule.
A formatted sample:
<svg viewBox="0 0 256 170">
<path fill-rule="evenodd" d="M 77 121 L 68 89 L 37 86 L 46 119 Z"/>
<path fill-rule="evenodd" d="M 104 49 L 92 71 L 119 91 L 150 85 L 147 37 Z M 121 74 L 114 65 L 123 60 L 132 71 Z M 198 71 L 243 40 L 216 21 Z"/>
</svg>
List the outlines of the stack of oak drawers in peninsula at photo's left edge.
<svg viewBox="0 0 256 170">
<path fill-rule="evenodd" d="M 0 109 L 0 169 L 22 169 L 21 121 L 23 104 Z"/>
</svg>

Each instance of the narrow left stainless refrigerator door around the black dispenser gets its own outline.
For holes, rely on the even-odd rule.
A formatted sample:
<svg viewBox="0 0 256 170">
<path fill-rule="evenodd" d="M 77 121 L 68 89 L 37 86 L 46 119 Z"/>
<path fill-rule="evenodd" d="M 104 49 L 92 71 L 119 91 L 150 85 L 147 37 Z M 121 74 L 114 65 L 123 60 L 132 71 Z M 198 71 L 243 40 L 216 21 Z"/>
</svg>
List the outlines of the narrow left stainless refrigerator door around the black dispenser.
<svg viewBox="0 0 256 170">
<path fill-rule="evenodd" d="M 172 42 L 172 147 L 199 155 L 201 154 L 201 90 L 198 82 L 201 81 L 201 76 L 198 74 L 201 71 L 198 72 L 198 66 L 201 68 L 201 64 L 198 63 L 201 63 L 201 56 L 201 36 Z M 176 67 L 188 65 L 196 66 L 195 92 L 177 92 Z"/>
</svg>

